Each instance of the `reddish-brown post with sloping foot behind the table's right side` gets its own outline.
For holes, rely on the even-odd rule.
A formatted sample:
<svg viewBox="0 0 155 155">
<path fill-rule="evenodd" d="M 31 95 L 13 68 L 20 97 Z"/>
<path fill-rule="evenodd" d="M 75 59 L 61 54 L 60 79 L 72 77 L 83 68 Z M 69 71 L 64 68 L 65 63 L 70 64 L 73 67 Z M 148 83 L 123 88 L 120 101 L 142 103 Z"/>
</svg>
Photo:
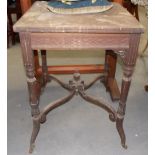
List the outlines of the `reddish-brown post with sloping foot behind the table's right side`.
<svg viewBox="0 0 155 155">
<path fill-rule="evenodd" d="M 105 80 L 105 87 L 113 101 L 120 99 L 120 91 L 115 79 L 116 63 L 117 55 L 112 50 L 106 50 L 105 71 L 108 73 L 108 76 Z"/>
</svg>

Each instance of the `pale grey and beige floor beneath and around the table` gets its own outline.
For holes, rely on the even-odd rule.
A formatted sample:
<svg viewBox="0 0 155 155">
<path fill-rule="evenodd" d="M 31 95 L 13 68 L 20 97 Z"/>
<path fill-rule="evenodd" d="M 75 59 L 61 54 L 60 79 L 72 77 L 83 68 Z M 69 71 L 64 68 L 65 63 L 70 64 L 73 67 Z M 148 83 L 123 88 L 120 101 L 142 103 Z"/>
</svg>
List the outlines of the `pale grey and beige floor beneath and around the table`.
<svg viewBox="0 0 155 155">
<path fill-rule="evenodd" d="M 142 41 L 143 42 L 143 41 Z M 144 41 L 145 42 L 145 41 Z M 144 43 L 140 45 L 142 49 Z M 104 51 L 50 52 L 50 64 L 104 63 Z M 82 75 L 90 81 L 96 75 Z M 71 76 L 57 76 L 68 81 Z M 116 78 L 121 84 L 122 64 L 118 60 Z M 147 155 L 148 151 L 148 94 L 144 91 L 147 83 L 147 54 L 139 57 L 127 101 L 124 129 L 128 149 L 120 145 L 115 123 L 108 114 L 91 105 L 79 96 L 55 109 L 47 116 L 36 140 L 36 155 Z M 115 108 L 109 94 L 98 82 L 88 93 L 106 100 Z M 56 83 L 48 84 L 41 96 L 40 107 L 63 97 L 67 92 Z M 22 65 L 20 45 L 8 49 L 8 155 L 27 155 L 32 120 L 28 104 L 26 77 Z"/>
</svg>

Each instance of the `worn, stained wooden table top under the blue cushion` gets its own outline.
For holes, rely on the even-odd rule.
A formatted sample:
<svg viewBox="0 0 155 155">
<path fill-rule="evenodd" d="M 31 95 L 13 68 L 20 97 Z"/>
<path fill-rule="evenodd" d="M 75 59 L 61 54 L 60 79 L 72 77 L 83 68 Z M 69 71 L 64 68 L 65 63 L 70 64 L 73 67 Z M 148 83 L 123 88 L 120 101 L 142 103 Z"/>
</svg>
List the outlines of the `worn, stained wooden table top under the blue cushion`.
<svg viewBox="0 0 155 155">
<path fill-rule="evenodd" d="M 143 26 L 120 4 L 105 12 L 62 15 L 50 12 L 47 2 L 37 1 L 15 23 L 15 32 L 142 33 Z"/>
</svg>

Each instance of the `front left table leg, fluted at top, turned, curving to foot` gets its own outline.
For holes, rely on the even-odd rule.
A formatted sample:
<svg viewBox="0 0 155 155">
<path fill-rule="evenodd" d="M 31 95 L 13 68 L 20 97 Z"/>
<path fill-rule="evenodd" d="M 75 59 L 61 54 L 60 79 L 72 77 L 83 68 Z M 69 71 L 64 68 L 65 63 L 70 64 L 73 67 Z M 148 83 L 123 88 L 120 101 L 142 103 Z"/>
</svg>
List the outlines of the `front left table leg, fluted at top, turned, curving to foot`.
<svg viewBox="0 0 155 155">
<path fill-rule="evenodd" d="M 30 150 L 33 151 L 34 143 L 40 129 L 39 122 L 39 96 L 40 96 L 40 85 L 35 77 L 35 66 L 34 66 L 34 55 L 31 49 L 31 36 L 29 33 L 20 33 L 20 43 L 22 48 L 23 62 L 26 70 L 28 91 L 30 97 L 31 114 L 33 117 L 33 131 L 30 141 Z"/>
</svg>

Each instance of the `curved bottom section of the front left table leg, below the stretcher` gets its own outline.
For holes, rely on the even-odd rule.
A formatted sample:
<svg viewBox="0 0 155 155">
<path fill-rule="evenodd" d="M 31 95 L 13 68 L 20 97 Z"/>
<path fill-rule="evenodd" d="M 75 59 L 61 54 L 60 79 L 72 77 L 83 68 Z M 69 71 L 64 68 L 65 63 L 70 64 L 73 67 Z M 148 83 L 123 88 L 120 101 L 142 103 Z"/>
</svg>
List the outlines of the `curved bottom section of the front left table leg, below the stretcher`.
<svg viewBox="0 0 155 155">
<path fill-rule="evenodd" d="M 33 118 L 33 131 L 31 135 L 31 141 L 30 141 L 30 148 L 29 148 L 29 153 L 33 152 L 33 149 L 35 147 L 35 140 L 37 138 L 37 135 L 40 130 L 40 122 L 38 118 Z"/>
</svg>

